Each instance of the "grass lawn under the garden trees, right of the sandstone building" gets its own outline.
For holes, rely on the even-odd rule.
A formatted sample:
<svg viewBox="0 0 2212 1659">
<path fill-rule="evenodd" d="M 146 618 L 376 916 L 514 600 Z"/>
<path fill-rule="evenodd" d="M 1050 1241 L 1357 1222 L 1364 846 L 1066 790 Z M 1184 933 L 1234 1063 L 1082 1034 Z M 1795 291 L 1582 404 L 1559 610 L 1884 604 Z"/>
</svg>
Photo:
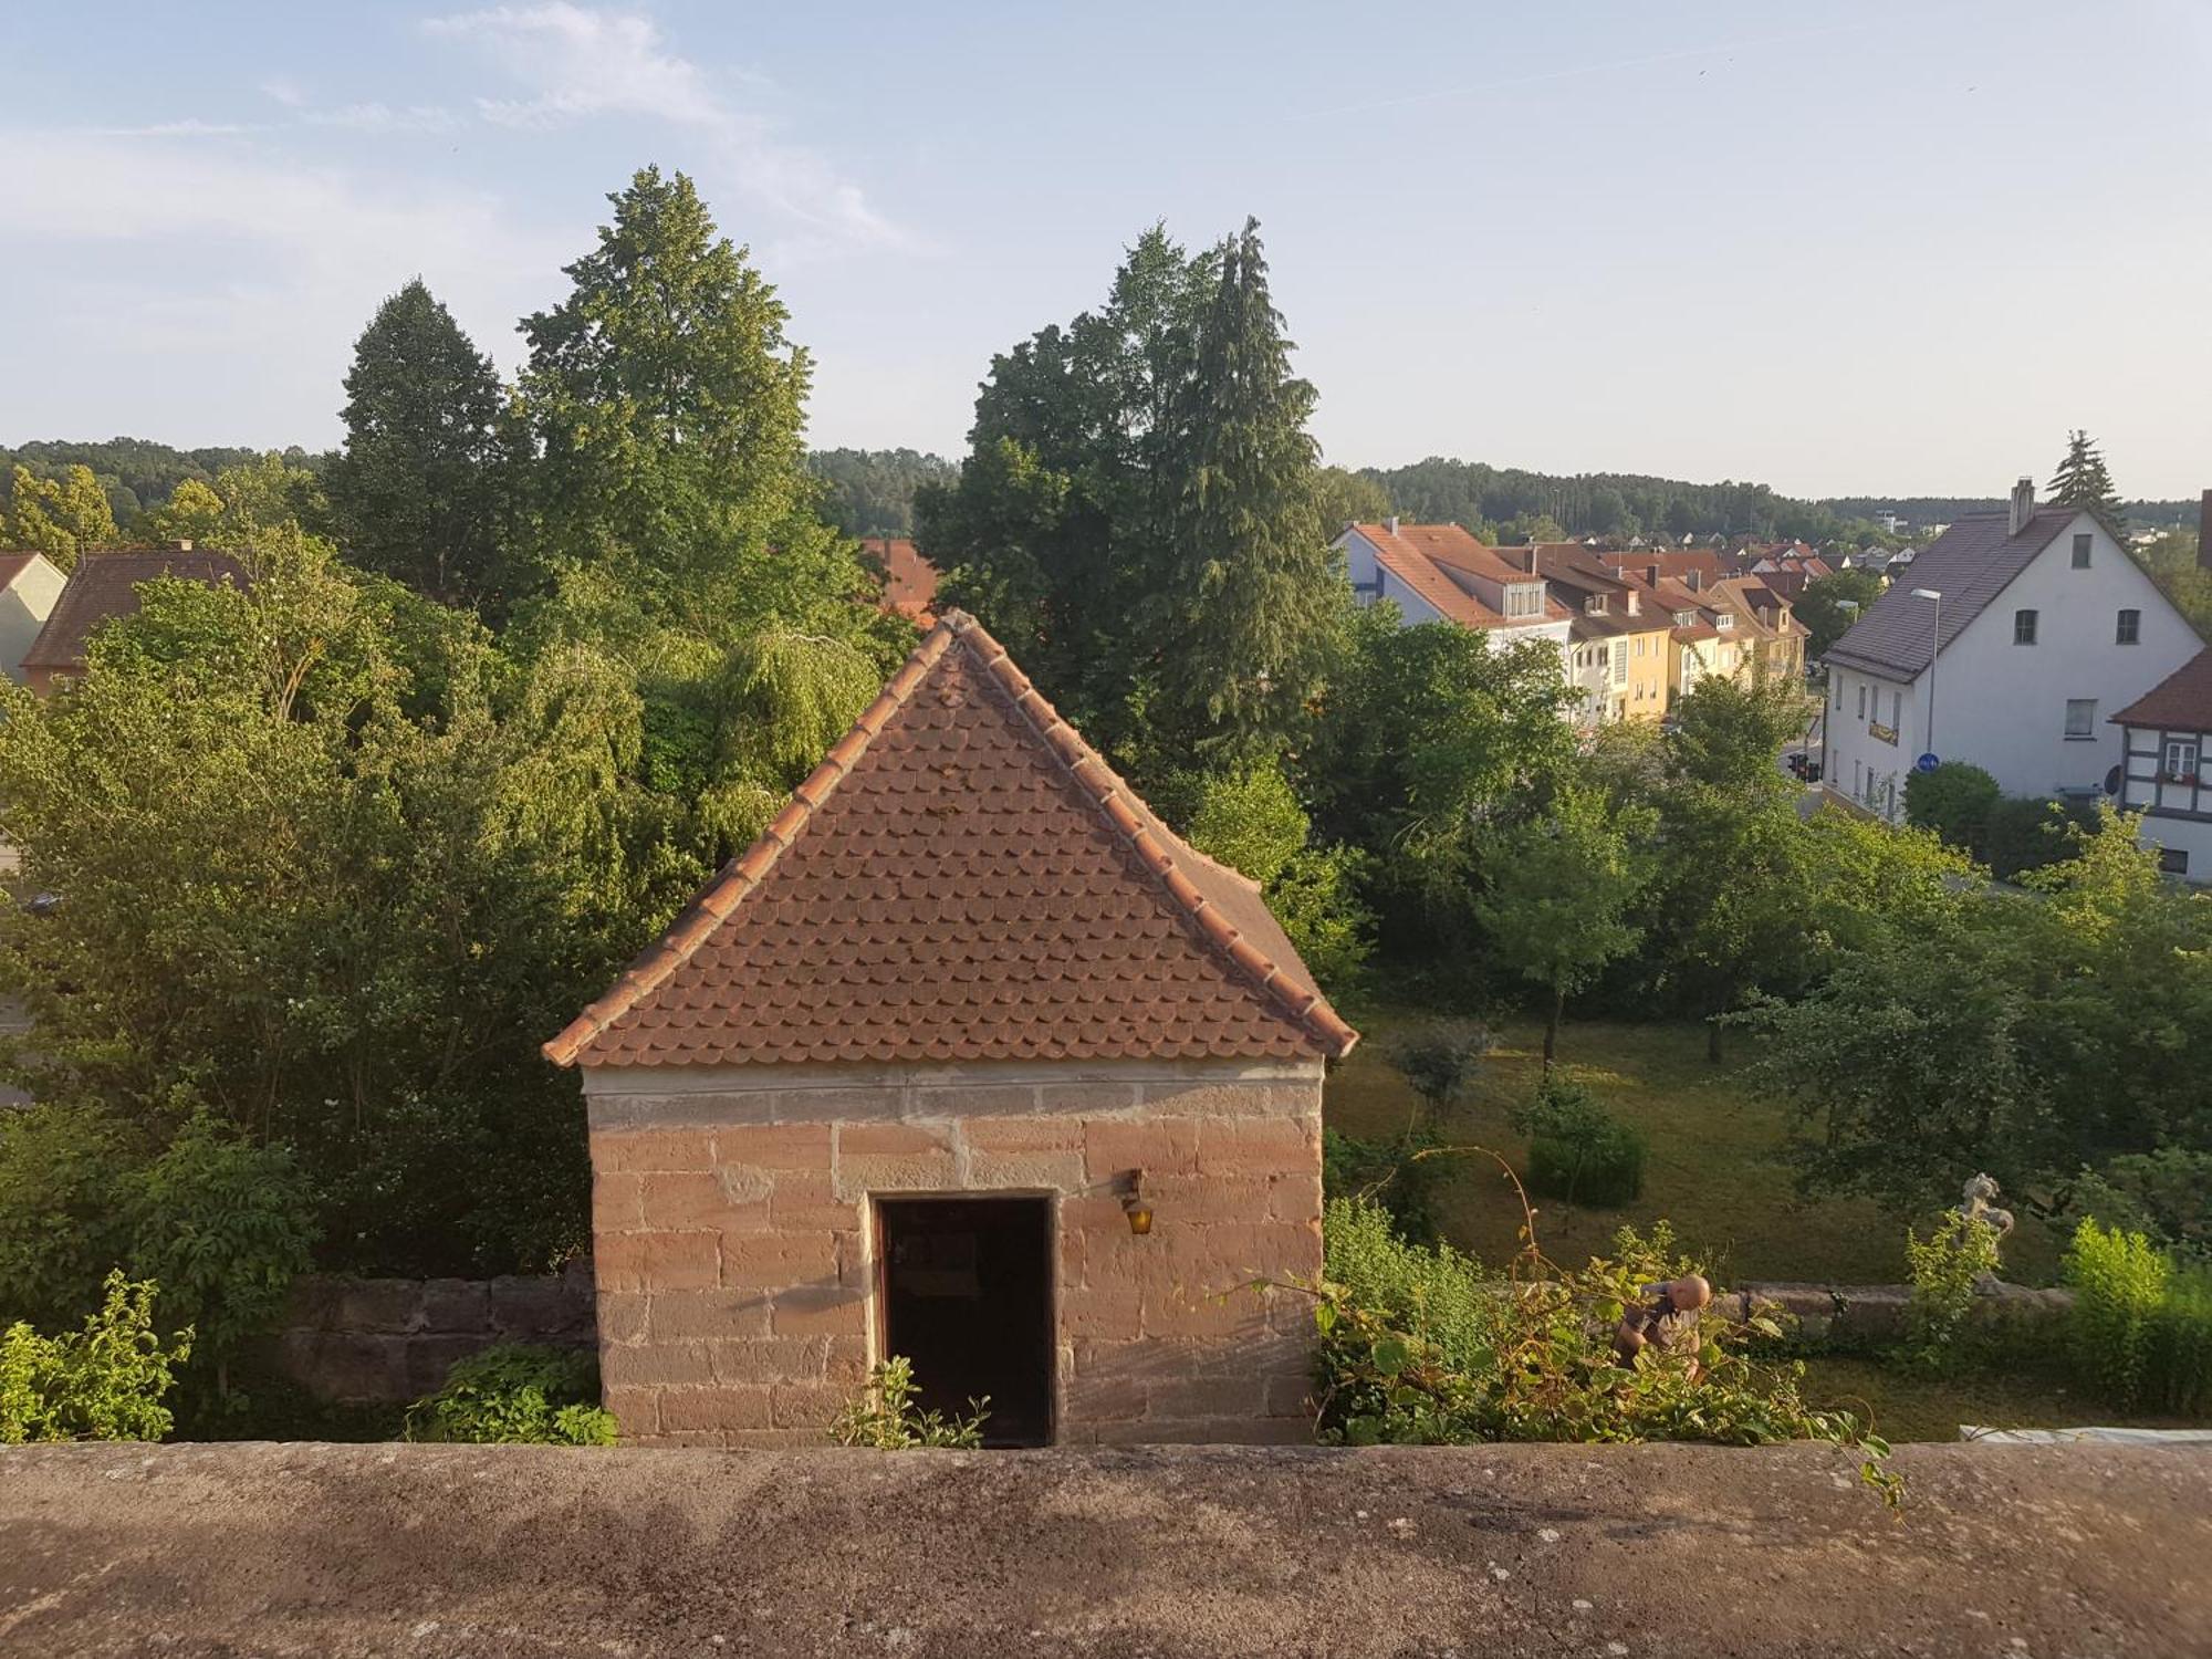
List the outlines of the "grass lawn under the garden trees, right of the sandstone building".
<svg viewBox="0 0 2212 1659">
<path fill-rule="evenodd" d="M 1383 1048 L 1391 1031 L 1418 1018 L 1427 1015 L 1383 1006 L 1354 1020 L 1363 1042 L 1329 1077 L 1329 1128 L 1345 1135 L 1405 1128 L 1416 1097 Z M 1491 1146 L 1522 1168 L 1526 1148 L 1506 1126 L 1504 1108 L 1535 1091 L 1542 1037 L 1535 1022 L 1504 1022 L 1471 1097 L 1442 1126 L 1449 1141 Z M 1801 1201 L 1785 1161 L 1787 1113 L 1736 1084 L 1741 1055 L 1719 1066 L 1705 1060 L 1703 1026 L 1573 1022 L 1559 1033 L 1559 1062 L 1644 1130 L 1650 1152 L 1644 1197 L 1621 1210 L 1537 1199 L 1544 1254 L 1577 1261 L 1601 1252 L 1621 1221 L 1646 1225 L 1666 1217 L 1723 1285 L 1905 1279 L 1905 1217 L 1867 1199 Z M 1482 1261 L 1502 1263 L 1517 1248 L 1513 1188 L 1484 1159 L 1453 1164 L 1442 1199 L 1444 1232 Z M 2046 1283 L 2055 1263 L 2055 1241 L 2033 1223 L 2024 1223 L 2006 1248 L 2008 1279 Z"/>
</svg>

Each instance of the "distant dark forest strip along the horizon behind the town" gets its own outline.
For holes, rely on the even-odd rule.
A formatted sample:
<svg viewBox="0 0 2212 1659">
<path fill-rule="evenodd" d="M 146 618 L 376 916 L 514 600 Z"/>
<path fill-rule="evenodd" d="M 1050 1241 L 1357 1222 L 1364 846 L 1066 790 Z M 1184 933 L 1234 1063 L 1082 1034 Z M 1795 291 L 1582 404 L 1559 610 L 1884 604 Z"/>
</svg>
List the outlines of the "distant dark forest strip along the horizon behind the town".
<svg viewBox="0 0 2212 1659">
<path fill-rule="evenodd" d="M 257 456 L 254 449 L 237 447 L 173 449 L 146 438 L 38 440 L 15 449 L 0 447 L 0 484 L 18 465 L 38 476 L 53 476 L 64 467 L 91 467 L 108 495 L 115 522 L 128 533 L 142 511 L 161 507 L 186 478 L 212 482 L 223 467 Z M 314 471 L 327 453 L 294 445 L 283 458 L 292 467 Z M 951 460 L 918 449 L 816 449 L 807 465 L 823 480 L 823 518 L 847 535 L 911 535 L 914 491 L 956 473 Z M 1559 535 L 1672 540 L 1756 535 L 1814 544 L 1896 544 L 1909 538 L 1885 535 L 1874 524 L 1874 513 L 1896 511 L 1911 524 L 1947 524 L 1962 513 L 2004 504 L 1995 495 L 1796 500 L 1774 493 L 1767 484 L 1690 484 L 1641 473 L 1533 473 L 1442 456 L 1409 467 L 1367 467 L 1358 478 L 1380 491 L 1383 511 L 1422 522 L 1458 522 L 1506 540 L 1557 531 Z M 2194 529 L 2197 502 L 2128 502 L 2128 520 L 2150 531 Z"/>
</svg>

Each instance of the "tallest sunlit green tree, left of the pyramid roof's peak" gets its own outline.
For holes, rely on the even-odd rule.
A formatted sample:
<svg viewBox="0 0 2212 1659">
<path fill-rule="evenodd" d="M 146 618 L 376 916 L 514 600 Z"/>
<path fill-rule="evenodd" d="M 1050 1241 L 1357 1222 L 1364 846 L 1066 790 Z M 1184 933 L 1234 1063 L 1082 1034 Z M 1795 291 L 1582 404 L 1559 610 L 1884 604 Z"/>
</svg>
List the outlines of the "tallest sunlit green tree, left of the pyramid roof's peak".
<svg viewBox="0 0 2212 1659">
<path fill-rule="evenodd" d="M 611 201 L 568 299 L 522 323 L 542 555 L 712 637 L 816 622 L 867 573 L 814 515 L 790 314 L 681 173 Z"/>
</svg>

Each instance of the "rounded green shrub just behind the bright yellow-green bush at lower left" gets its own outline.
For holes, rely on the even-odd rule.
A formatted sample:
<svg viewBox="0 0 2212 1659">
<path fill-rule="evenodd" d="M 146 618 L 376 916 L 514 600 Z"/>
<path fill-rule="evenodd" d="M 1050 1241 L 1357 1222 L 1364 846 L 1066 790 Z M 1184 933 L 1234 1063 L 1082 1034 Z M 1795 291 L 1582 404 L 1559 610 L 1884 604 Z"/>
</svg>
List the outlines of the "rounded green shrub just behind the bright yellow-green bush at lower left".
<svg viewBox="0 0 2212 1659">
<path fill-rule="evenodd" d="M 314 1192 L 290 1148 L 254 1146 L 192 1117 L 153 1164 L 124 1181 L 131 1265 L 161 1285 L 164 1310 L 190 1321 L 230 1394 L 237 1345 L 283 1312 L 316 1239 Z"/>
</svg>

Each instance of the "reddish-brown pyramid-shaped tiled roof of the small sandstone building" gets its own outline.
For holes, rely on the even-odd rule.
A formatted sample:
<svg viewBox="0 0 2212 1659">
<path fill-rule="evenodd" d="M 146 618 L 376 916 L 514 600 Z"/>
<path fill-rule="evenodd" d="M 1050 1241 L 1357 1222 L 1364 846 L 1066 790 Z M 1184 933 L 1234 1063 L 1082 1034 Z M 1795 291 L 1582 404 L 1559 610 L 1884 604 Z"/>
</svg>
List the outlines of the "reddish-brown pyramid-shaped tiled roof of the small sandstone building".
<svg viewBox="0 0 2212 1659">
<path fill-rule="evenodd" d="M 1298 1060 L 1358 1033 L 947 611 L 768 832 L 544 1046 L 568 1066 Z"/>
</svg>

